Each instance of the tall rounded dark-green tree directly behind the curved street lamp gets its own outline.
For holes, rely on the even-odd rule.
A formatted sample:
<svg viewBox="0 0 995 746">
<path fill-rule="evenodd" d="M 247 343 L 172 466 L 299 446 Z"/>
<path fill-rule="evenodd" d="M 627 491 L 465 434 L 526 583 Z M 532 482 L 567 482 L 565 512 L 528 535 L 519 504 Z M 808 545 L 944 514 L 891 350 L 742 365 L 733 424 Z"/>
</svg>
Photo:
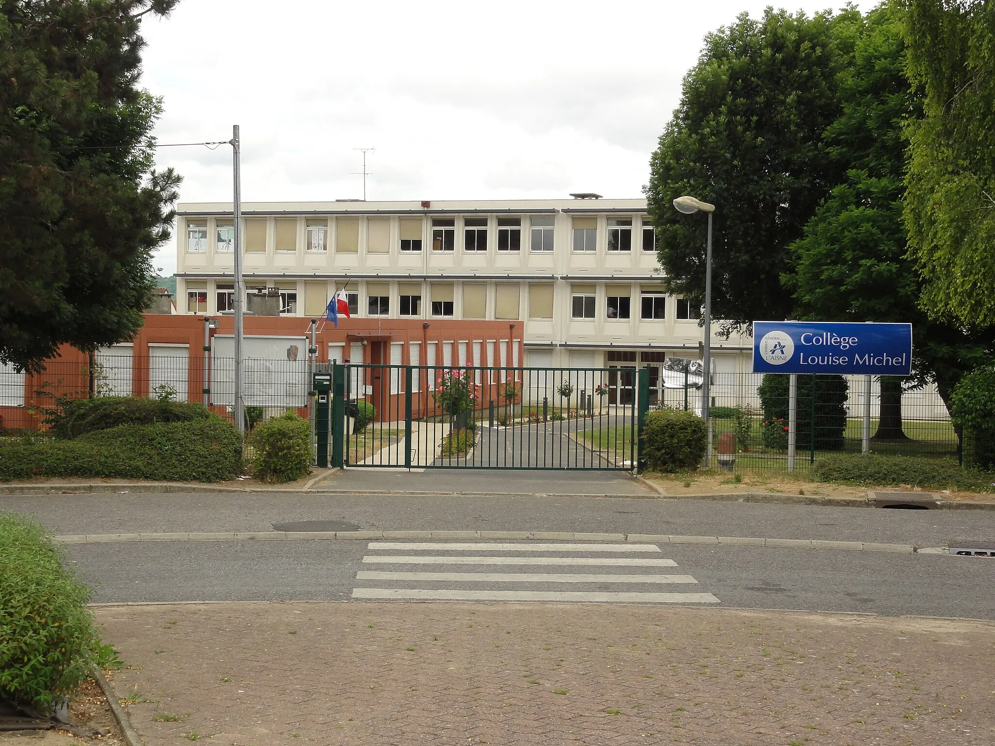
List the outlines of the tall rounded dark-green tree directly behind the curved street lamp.
<svg viewBox="0 0 995 746">
<path fill-rule="evenodd" d="M 837 183 L 823 133 L 840 113 L 860 13 L 808 17 L 768 9 L 705 38 L 646 188 L 664 283 L 704 297 L 705 221 L 675 211 L 690 194 L 714 213 L 712 308 L 739 326 L 786 318 L 789 247 Z"/>
</svg>

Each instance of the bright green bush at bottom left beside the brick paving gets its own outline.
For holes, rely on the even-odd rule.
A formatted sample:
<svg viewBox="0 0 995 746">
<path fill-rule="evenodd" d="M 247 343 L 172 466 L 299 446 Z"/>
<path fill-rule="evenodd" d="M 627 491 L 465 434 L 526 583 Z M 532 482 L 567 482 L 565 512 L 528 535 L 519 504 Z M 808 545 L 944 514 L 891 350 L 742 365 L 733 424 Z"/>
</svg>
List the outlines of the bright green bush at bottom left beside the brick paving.
<svg viewBox="0 0 995 746">
<path fill-rule="evenodd" d="M 88 601 L 41 525 L 0 515 L 0 700 L 48 713 L 87 677 L 99 647 Z"/>
</svg>

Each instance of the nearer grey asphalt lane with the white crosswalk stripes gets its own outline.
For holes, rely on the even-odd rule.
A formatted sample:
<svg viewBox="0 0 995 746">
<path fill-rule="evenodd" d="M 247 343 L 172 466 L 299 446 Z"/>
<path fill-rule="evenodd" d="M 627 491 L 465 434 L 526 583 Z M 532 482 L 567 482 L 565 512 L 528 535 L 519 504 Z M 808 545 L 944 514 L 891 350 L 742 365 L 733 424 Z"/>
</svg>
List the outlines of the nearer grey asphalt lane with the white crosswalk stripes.
<svg viewBox="0 0 995 746">
<path fill-rule="evenodd" d="M 74 567 L 94 589 L 101 603 L 177 601 L 348 601 L 353 589 L 472 588 L 558 592 L 555 583 L 447 583 L 362 581 L 361 570 L 395 568 L 368 565 L 365 541 L 228 541 L 189 544 L 120 543 L 71 545 Z M 382 552 L 381 552 L 382 553 Z M 389 551 L 388 551 L 389 553 Z M 406 552 L 425 554 L 425 552 Z M 486 552 L 508 557 L 514 552 Z M 598 556 L 572 553 L 572 556 Z M 613 555 L 631 557 L 630 554 Z M 722 608 L 861 612 L 995 619 L 995 560 L 949 555 L 906 555 L 835 550 L 767 549 L 668 545 L 654 557 L 673 559 L 694 586 L 652 586 L 632 583 L 571 584 L 569 591 L 653 592 L 695 591 L 712 594 Z M 540 556 L 536 561 L 547 561 Z M 466 565 L 419 565 L 416 569 L 466 571 Z M 475 567 L 473 569 L 480 569 Z M 488 570 L 509 568 L 488 567 Z M 544 566 L 536 572 L 577 571 Z M 581 568 L 611 573 L 619 568 Z M 631 568 L 623 568 L 631 572 Z M 656 569 L 654 569 L 656 571 Z M 389 603 L 389 602 L 385 602 Z M 713 605 L 714 606 L 714 605 Z"/>
</svg>

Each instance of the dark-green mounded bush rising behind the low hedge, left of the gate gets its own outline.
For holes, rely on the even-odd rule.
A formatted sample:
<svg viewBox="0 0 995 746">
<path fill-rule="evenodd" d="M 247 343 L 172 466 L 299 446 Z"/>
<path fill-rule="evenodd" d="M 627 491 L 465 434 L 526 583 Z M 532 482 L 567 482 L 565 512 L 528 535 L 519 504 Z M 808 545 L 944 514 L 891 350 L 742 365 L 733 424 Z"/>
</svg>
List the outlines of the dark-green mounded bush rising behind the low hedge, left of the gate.
<svg viewBox="0 0 995 746">
<path fill-rule="evenodd" d="M 210 414 L 210 410 L 199 402 L 173 402 L 133 396 L 74 399 L 63 404 L 61 412 L 53 417 L 52 434 L 56 438 L 77 438 L 120 425 L 206 420 Z"/>
</svg>

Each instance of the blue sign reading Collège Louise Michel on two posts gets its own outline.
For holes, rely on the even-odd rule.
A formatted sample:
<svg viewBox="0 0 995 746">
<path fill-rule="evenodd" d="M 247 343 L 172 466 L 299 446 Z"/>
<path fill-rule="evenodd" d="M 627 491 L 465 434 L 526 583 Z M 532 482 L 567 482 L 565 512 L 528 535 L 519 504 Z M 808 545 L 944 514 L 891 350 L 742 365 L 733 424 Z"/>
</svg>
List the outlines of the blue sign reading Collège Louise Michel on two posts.
<svg viewBox="0 0 995 746">
<path fill-rule="evenodd" d="M 912 325 L 841 321 L 754 321 L 754 373 L 907 376 Z"/>
</svg>

